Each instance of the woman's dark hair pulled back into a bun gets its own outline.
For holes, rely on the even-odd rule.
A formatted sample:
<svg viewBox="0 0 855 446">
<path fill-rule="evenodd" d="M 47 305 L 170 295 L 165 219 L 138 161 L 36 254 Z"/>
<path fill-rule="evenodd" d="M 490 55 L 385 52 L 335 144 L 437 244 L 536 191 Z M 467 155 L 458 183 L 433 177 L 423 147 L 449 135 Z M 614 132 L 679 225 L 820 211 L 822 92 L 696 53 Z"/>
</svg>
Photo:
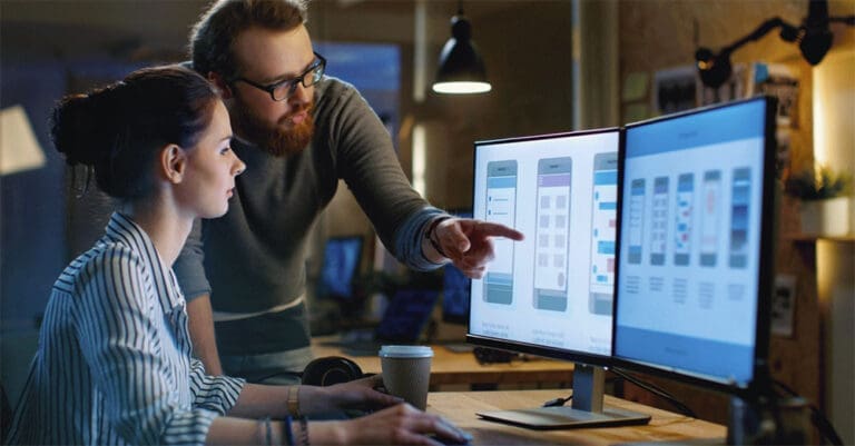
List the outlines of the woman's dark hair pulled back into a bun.
<svg viewBox="0 0 855 446">
<path fill-rule="evenodd" d="M 51 137 L 69 165 L 94 168 L 107 195 L 139 199 L 154 190 L 158 151 L 170 143 L 195 147 L 217 99 L 212 85 L 187 68 L 144 68 L 120 82 L 60 100 Z"/>
</svg>

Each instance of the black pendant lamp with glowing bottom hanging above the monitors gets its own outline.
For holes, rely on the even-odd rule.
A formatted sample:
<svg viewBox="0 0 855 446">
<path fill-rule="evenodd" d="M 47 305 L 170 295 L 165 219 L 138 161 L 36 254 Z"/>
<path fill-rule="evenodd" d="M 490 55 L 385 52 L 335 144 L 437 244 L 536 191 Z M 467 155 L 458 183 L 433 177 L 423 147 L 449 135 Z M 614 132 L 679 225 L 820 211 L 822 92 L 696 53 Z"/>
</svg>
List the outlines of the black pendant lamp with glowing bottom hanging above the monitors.
<svg viewBox="0 0 855 446">
<path fill-rule="evenodd" d="M 452 37 L 440 53 L 440 68 L 433 91 L 441 93 L 478 93 L 490 91 L 484 61 L 472 42 L 472 29 L 462 16 L 451 19 Z"/>
</svg>

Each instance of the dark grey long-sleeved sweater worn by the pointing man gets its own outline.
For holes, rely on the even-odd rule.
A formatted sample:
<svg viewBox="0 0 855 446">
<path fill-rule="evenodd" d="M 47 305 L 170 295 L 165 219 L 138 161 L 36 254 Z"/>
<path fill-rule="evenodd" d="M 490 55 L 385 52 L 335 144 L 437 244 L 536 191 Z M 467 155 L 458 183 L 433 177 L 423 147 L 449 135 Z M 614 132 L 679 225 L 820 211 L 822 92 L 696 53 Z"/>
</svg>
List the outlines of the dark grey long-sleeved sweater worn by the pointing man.
<svg viewBox="0 0 855 446">
<path fill-rule="evenodd" d="M 188 300 L 210 294 L 215 311 L 258 313 L 299 297 L 308 234 L 338 179 L 399 260 L 414 269 L 436 267 L 422 254 L 421 239 L 441 211 L 410 186 L 383 123 L 346 82 L 326 77 L 315 95 L 315 136 L 302 152 L 277 158 L 233 143 L 246 171 L 236 179 L 229 210 L 197 222 L 174 267 Z"/>
</svg>

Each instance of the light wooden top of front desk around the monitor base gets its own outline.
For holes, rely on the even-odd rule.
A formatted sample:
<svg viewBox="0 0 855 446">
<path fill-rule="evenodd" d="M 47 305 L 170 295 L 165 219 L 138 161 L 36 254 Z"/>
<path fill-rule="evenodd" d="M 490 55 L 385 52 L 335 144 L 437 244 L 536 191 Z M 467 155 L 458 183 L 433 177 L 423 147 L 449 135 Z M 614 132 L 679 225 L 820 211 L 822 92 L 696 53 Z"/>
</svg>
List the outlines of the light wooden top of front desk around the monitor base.
<svg viewBox="0 0 855 446">
<path fill-rule="evenodd" d="M 428 395 L 428 412 L 453 422 L 474 436 L 473 445 L 613 445 L 633 442 L 719 438 L 725 426 L 686 417 L 637 403 L 606 396 L 606 405 L 652 416 L 643 426 L 533 430 L 488 422 L 476 412 L 538 407 L 543 402 L 566 396 L 562 390 L 434 392 Z"/>
</svg>

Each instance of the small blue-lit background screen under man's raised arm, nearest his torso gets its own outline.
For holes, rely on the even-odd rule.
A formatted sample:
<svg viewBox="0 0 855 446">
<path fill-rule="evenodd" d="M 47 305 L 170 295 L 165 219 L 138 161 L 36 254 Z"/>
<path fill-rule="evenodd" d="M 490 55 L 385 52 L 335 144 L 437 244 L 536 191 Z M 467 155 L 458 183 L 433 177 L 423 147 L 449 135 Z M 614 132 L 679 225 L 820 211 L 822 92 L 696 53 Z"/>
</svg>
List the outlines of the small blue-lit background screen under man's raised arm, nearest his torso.
<svg viewBox="0 0 855 446">
<path fill-rule="evenodd" d="M 360 269 L 362 237 L 333 237 L 326 240 L 321 277 L 317 283 L 318 297 L 350 299 L 353 297 L 353 280 Z"/>
</svg>

